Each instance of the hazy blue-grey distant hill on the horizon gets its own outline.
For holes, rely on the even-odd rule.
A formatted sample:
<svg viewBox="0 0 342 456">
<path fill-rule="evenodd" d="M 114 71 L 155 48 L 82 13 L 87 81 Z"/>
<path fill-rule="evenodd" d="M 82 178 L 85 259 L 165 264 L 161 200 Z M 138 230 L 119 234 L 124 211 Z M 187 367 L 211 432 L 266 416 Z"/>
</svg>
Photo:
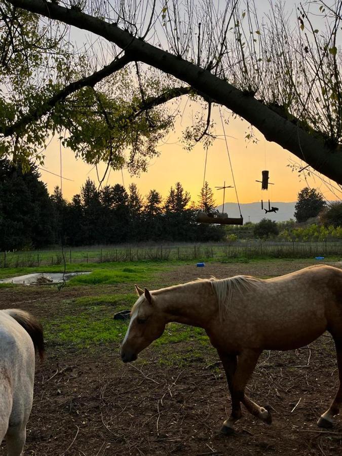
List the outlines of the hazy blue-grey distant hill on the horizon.
<svg viewBox="0 0 342 456">
<path fill-rule="evenodd" d="M 264 203 L 264 207 L 268 207 L 267 204 Z M 294 206 L 296 202 L 293 203 L 277 203 L 272 202 L 271 206 L 279 207 L 279 211 L 277 213 L 271 212 L 269 214 L 265 214 L 265 211 L 261 209 L 261 202 L 260 203 L 246 203 L 240 204 L 241 212 L 243 215 L 244 223 L 249 221 L 253 223 L 258 223 L 262 218 L 269 218 L 271 220 L 276 221 L 286 221 L 290 220 L 290 218 L 294 218 Z M 217 206 L 217 209 L 221 212 L 222 211 L 222 204 Z M 227 212 L 229 217 L 240 217 L 239 208 L 237 203 L 224 203 L 224 212 Z"/>
</svg>

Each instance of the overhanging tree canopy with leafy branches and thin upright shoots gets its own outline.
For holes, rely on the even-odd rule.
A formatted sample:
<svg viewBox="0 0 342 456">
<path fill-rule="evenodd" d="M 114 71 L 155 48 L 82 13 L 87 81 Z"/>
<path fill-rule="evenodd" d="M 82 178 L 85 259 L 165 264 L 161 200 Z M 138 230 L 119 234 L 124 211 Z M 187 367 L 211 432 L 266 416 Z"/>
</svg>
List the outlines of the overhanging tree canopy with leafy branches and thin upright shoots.
<svg viewBox="0 0 342 456">
<path fill-rule="evenodd" d="M 268 11 L 252 0 L 1 6 L 2 155 L 43 160 L 50 133 L 62 132 L 89 163 L 145 170 L 179 113 L 166 103 L 186 95 L 207 106 L 184 132 L 186 147 L 211 140 L 217 103 L 342 183 L 342 0 L 331 8 L 308 0 L 292 22 L 280 1 Z M 95 34 L 96 44 L 72 48 L 72 26 Z"/>
</svg>

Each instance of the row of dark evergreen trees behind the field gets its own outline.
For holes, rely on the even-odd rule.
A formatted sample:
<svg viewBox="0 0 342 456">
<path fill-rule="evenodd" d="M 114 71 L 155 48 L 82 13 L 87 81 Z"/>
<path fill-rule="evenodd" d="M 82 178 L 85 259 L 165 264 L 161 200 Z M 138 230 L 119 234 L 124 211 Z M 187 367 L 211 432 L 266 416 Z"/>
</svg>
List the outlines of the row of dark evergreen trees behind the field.
<svg viewBox="0 0 342 456">
<path fill-rule="evenodd" d="M 143 197 L 132 183 L 98 188 L 90 178 L 70 202 L 57 186 L 49 195 L 39 170 L 28 172 L 0 160 L 0 250 L 42 248 L 48 245 L 120 244 L 143 241 L 218 241 L 224 229 L 196 222 L 203 199 L 215 206 L 208 184 L 199 202 L 180 182 L 163 200 L 156 189 Z"/>
</svg>

